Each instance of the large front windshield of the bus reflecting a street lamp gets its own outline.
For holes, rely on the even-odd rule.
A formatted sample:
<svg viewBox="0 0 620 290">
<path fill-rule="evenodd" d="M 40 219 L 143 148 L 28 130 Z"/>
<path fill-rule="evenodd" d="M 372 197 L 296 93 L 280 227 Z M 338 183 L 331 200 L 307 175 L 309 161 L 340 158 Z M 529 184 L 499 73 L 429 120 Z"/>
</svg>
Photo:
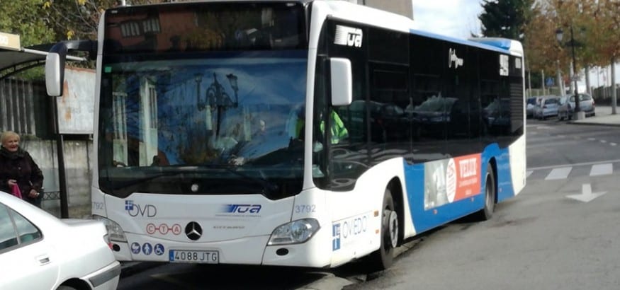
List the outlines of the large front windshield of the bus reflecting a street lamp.
<svg viewBox="0 0 620 290">
<path fill-rule="evenodd" d="M 118 197 L 299 192 L 303 149 L 291 144 L 307 50 L 158 55 L 104 58 L 101 190 Z"/>
</svg>

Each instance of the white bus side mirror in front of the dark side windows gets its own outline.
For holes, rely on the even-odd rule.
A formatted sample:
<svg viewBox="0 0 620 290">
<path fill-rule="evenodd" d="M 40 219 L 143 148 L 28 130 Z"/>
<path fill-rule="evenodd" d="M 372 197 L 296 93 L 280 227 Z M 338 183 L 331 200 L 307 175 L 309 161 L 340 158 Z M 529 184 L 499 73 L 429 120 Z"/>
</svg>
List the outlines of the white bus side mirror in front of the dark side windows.
<svg viewBox="0 0 620 290">
<path fill-rule="evenodd" d="M 353 74 L 351 61 L 344 58 L 331 58 L 332 105 L 351 105 L 353 101 Z"/>
</svg>

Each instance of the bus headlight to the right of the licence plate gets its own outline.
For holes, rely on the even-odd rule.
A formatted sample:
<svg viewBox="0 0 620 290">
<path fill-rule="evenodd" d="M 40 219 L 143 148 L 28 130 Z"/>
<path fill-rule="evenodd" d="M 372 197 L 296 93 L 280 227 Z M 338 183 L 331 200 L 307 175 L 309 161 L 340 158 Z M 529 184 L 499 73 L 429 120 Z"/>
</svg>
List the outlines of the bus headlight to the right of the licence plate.
<svg viewBox="0 0 620 290">
<path fill-rule="evenodd" d="M 319 221 L 316 219 L 300 219 L 291 221 L 288 224 L 278 226 L 267 245 L 286 245 L 294 243 L 305 243 L 319 230 Z"/>
</svg>

